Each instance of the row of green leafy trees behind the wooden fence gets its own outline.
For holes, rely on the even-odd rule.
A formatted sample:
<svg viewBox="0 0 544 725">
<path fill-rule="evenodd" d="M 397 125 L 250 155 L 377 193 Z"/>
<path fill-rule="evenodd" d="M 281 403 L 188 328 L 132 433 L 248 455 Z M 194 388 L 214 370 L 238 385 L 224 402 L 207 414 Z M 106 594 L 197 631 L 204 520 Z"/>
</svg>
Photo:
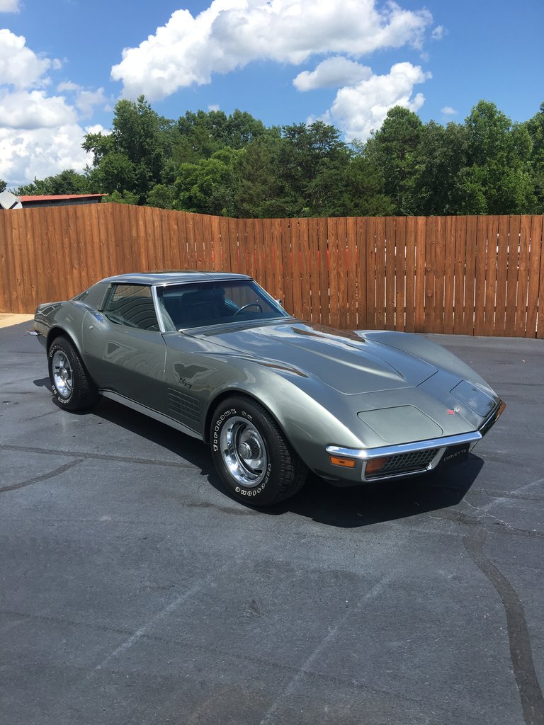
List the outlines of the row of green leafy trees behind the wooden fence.
<svg viewBox="0 0 544 725">
<path fill-rule="evenodd" d="M 544 212 L 544 103 L 526 123 L 488 101 L 448 125 L 395 107 L 368 141 L 347 145 L 322 121 L 267 128 L 240 110 L 171 120 L 140 96 L 82 145 L 84 173 L 18 192 L 248 218 Z"/>
</svg>

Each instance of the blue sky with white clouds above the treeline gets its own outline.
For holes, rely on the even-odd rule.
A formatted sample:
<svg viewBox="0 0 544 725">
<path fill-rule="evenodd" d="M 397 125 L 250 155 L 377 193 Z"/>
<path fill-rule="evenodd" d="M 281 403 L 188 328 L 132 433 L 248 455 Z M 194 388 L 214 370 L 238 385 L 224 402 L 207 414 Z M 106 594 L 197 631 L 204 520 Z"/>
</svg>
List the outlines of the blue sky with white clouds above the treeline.
<svg viewBox="0 0 544 725">
<path fill-rule="evenodd" d="M 447 123 L 486 99 L 524 121 L 543 27 L 543 0 L 0 0 L 0 178 L 83 169 L 83 134 L 141 93 L 170 118 L 321 118 L 347 141 L 395 104 Z"/>
</svg>

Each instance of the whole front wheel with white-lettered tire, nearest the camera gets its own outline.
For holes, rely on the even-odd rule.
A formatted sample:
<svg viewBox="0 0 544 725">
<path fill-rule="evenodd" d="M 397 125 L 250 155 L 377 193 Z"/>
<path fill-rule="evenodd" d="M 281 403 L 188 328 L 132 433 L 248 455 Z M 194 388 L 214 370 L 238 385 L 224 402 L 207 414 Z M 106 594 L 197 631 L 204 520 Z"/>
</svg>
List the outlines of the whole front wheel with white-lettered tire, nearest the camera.
<svg viewBox="0 0 544 725">
<path fill-rule="evenodd" d="M 299 491 L 308 469 L 262 405 L 232 397 L 215 410 L 210 429 L 215 468 L 229 492 L 271 506 Z"/>
</svg>

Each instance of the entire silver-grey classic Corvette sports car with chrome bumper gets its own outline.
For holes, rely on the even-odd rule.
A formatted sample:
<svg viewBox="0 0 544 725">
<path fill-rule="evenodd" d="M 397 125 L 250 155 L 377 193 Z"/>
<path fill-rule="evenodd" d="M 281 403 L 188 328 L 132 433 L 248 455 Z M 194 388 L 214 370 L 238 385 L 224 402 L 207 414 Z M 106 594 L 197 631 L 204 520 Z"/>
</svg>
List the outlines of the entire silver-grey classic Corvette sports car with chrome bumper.
<svg viewBox="0 0 544 725">
<path fill-rule="evenodd" d="M 234 497 L 267 506 L 308 469 L 340 485 L 461 460 L 504 403 L 425 337 L 297 320 L 252 278 L 110 277 L 39 305 L 54 399 L 117 400 L 209 442 Z"/>
</svg>

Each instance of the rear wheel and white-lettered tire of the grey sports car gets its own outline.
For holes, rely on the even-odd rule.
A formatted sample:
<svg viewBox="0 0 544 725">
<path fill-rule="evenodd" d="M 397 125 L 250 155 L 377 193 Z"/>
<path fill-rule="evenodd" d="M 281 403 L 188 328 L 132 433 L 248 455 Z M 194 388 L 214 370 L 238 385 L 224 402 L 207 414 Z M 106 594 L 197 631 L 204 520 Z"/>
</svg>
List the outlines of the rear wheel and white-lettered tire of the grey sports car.
<svg viewBox="0 0 544 725">
<path fill-rule="evenodd" d="M 55 402 L 65 410 L 87 410 L 98 399 L 98 391 L 73 343 L 54 339 L 48 352 L 49 380 Z"/>
</svg>

